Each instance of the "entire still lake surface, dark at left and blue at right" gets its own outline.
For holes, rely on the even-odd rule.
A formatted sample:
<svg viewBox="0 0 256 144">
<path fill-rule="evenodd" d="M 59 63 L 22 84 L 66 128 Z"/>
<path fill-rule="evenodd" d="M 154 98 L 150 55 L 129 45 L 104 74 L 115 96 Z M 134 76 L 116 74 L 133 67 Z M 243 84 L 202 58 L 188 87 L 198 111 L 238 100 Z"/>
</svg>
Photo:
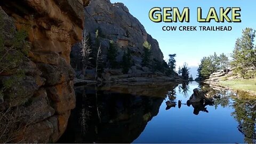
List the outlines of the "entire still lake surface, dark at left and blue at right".
<svg viewBox="0 0 256 144">
<path fill-rule="evenodd" d="M 220 98 L 211 106 L 186 105 L 195 88 Z M 76 108 L 59 142 L 255 143 L 256 100 L 213 88 L 196 82 L 76 87 Z"/>
</svg>

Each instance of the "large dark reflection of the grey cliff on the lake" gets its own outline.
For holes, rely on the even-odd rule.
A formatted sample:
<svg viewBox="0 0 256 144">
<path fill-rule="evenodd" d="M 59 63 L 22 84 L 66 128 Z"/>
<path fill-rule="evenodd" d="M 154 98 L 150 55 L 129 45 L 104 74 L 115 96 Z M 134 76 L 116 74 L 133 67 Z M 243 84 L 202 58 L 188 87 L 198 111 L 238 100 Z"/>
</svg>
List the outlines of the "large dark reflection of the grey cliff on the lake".
<svg viewBox="0 0 256 144">
<path fill-rule="evenodd" d="M 176 86 L 78 87 L 76 109 L 59 142 L 131 143 L 158 114 L 166 93 Z"/>
</svg>

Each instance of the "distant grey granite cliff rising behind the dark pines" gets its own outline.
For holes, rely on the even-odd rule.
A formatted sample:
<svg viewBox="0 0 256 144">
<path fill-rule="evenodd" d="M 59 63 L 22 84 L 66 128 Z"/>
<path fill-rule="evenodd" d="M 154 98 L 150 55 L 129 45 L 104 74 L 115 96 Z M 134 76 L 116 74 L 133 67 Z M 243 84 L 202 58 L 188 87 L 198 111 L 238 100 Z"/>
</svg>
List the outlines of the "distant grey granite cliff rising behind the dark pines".
<svg viewBox="0 0 256 144">
<path fill-rule="evenodd" d="M 143 25 L 129 13 L 123 3 L 112 4 L 109 0 L 91 1 L 85 7 L 85 19 L 84 29 L 90 34 L 91 45 L 95 45 L 95 31 L 99 30 L 102 53 L 105 58 L 109 41 L 114 41 L 118 48 L 116 58 L 118 62 L 122 60 L 124 51 L 130 49 L 134 63 L 140 65 L 143 43 L 148 41 L 151 44 L 152 58 L 159 62 L 163 61 L 163 53 L 159 49 L 156 39 L 147 33 Z M 93 47 L 93 49 L 97 49 L 97 47 Z M 80 51 L 79 47 L 75 46 L 71 54 L 77 59 L 77 55 L 81 55 Z M 77 64 L 77 60 L 71 60 L 73 68 L 77 67 L 75 64 Z"/>
</svg>

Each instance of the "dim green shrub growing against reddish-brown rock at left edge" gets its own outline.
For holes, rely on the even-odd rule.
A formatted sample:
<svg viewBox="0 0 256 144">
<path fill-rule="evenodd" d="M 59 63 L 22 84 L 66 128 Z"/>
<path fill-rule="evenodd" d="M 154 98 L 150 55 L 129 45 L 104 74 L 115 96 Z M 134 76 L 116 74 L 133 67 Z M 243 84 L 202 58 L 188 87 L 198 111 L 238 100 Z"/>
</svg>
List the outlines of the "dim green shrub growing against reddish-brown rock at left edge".
<svg viewBox="0 0 256 144">
<path fill-rule="evenodd" d="M 14 33 L 14 37 L 8 39 L 8 41 L 11 41 L 12 46 L 7 47 L 4 45 L 4 22 L 2 15 L 0 15 L 0 24 L 0 76 L 6 72 L 9 75 L 0 84 L 0 99 L 3 99 L 4 96 L 13 98 L 15 95 L 25 94 L 24 90 L 20 88 L 19 83 L 25 77 L 25 73 L 20 66 L 29 52 L 28 43 L 25 41 L 27 33 L 24 29 Z M 11 90 L 13 87 L 16 87 L 15 91 Z M 8 93 L 8 95 L 4 93 Z"/>
</svg>

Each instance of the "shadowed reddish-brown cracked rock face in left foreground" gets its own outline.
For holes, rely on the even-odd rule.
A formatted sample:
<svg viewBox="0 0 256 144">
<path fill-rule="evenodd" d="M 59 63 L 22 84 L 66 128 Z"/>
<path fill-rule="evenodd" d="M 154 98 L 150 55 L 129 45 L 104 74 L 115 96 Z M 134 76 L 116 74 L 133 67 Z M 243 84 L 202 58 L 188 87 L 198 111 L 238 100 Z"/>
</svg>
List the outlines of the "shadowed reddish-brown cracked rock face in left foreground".
<svg viewBox="0 0 256 144">
<path fill-rule="evenodd" d="M 66 130 L 70 110 L 76 101 L 69 54 L 71 46 L 82 39 L 83 9 L 88 3 L 87 0 L 0 2 L 5 40 L 13 37 L 11 31 L 25 29 L 28 32 L 26 40 L 30 43 L 28 57 L 20 66 L 25 70 L 25 77 L 20 82 L 25 90 L 24 97 L 14 95 L 10 99 L 7 93 L 4 102 L 0 102 L 0 112 L 11 106 L 7 112 L 10 116 L 15 115 L 13 120 L 19 121 L 17 129 L 12 127 L 15 133 L 11 133 L 11 129 L 0 132 L 0 136 L 10 134 L 9 138 L 4 137 L 12 140 L 2 142 L 55 142 Z M 4 46 L 12 44 L 4 43 Z M 9 71 L 1 73 L 0 85 L 3 79 L 11 76 Z"/>
</svg>

